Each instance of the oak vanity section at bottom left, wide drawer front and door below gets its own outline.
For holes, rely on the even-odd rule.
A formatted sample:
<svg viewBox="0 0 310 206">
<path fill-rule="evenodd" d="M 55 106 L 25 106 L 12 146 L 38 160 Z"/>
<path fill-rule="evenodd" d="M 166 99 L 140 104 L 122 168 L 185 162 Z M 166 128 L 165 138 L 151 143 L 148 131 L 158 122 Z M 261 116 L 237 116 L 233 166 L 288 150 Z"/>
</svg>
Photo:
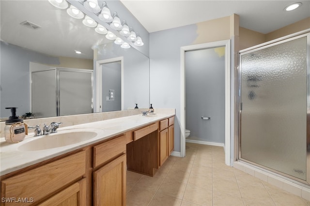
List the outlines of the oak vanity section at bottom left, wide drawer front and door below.
<svg viewBox="0 0 310 206">
<path fill-rule="evenodd" d="M 82 150 L 12 177 L 1 177 L 1 206 L 59 205 L 56 203 L 85 206 L 85 172 L 86 151 Z"/>
</svg>

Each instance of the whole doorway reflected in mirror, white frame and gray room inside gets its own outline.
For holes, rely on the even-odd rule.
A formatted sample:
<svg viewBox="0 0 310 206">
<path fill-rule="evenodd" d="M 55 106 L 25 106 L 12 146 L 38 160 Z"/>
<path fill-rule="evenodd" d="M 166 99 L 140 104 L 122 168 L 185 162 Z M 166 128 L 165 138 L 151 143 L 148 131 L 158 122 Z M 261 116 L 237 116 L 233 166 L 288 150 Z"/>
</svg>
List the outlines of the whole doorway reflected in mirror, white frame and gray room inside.
<svg viewBox="0 0 310 206">
<path fill-rule="evenodd" d="M 96 112 L 123 110 L 123 57 L 96 64 Z"/>
</svg>

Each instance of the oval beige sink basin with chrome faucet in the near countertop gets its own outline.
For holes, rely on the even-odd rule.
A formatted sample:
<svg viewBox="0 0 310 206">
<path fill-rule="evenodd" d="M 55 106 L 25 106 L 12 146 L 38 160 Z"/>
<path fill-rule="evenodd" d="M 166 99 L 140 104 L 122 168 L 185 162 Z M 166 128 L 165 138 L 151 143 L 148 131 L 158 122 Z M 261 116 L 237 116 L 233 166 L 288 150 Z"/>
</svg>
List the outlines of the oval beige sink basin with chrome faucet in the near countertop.
<svg viewBox="0 0 310 206">
<path fill-rule="evenodd" d="M 36 151 L 64 147 L 92 139 L 98 135 L 100 129 L 71 129 L 58 131 L 38 137 L 18 147 L 19 151 Z M 34 137 L 36 138 L 36 137 Z"/>
</svg>

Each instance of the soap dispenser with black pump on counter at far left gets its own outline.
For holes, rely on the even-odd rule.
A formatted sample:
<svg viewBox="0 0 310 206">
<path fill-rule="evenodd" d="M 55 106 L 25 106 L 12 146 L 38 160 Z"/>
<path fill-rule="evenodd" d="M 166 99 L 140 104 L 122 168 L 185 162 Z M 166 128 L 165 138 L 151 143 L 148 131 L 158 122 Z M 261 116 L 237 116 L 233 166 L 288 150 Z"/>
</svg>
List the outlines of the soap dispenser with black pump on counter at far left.
<svg viewBox="0 0 310 206">
<path fill-rule="evenodd" d="M 11 109 L 12 116 L 5 120 L 4 136 L 5 141 L 8 143 L 18 143 L 23 141 L 25 136 L 28 134 L 27 124 L 24 123 L 23 119 L 16 116 L 17 107 L 6 107 L 5 109 Z"/>
</svg>

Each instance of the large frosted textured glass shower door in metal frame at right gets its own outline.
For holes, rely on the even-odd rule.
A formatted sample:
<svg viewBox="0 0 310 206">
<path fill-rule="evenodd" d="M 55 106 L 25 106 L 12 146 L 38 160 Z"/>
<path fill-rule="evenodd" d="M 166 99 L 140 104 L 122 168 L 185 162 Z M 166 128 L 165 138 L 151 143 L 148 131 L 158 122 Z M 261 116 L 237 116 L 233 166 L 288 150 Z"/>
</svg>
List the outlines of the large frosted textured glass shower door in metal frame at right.
<svg viewBox="0 0 310 206">
<path fill-rule="evenodd" d="M 308 31 L 309 32 L 309 31 Z M 241 51 L 239 160 L 310 184 L 310 33 Z"/>
</svg>

